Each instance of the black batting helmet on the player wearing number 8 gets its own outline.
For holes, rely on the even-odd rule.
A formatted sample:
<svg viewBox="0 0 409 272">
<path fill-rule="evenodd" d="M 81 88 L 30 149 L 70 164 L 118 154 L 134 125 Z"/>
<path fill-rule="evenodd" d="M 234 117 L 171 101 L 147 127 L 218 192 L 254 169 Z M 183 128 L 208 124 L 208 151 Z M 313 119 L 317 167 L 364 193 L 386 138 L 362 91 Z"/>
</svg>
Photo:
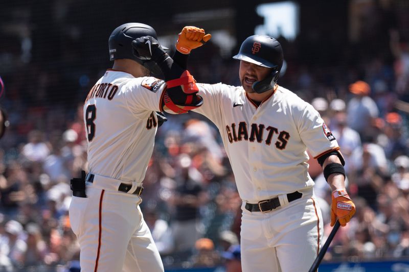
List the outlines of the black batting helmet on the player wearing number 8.
<svg viewBox="0 0 409 272">
<path fill-rule="evenodd" d="M 143 36 L 152 36 L 157 40 L 156 31 L 144 23 L 128 22 L 113 30 L 108 40 L 109 60 L 131 59 L 148 68 L 154 75 L 160 75 L 161 70 L 155 62 L 141 60 L 133 55 L 132 41 Z"/>
</svg>

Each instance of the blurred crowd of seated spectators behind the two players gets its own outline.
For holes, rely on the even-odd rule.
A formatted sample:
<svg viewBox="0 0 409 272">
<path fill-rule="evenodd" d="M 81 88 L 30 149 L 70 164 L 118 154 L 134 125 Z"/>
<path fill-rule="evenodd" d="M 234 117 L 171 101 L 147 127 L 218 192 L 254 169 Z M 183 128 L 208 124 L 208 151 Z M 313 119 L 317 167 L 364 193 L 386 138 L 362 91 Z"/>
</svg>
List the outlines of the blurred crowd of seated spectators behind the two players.
<svg viewBox="0 0 409 272">
<path fill-rule="evenodd" d="M 379 14 L 369 17 L 380 20 Z M 384 28 L 371 26 L 361 29 L 365 39 L 334 53 L 344 58 L 340 63 L 310 63 L 308 54 L 297 53 L 299 41 L 278 37 L 287 62 L 279 84 L 324 118 L 345 157 L 347 189 L 356 204 L 326 260 L 409 257 L 409 43 L 389 29 L 380 44 L 376 34 Z M 10 121 L 0 141 L 0 271 L 79 271 L 67 213 L 69 183 L 87 171 L 83 100 L 110 67 L 81 70 L 73 62 L 81 57 L 75 51 L 80 45 L 70 45 L 62 47 L 62 63 L 53 69 L 50 62 L 27 60 L 22 47 L 26 55 L 18 70 L 0 75 L 6 86 L 0 102 Z M 222 58 L 212 42 L 199 52 L 189 64 L 198 82 L 240 84 L 237 61 Z M 5 61 L 9 55 L 1 53 Z M 141 204 L 164 265 L 239 271 L 241 200 L 219 133 L 195 113 L 167 117 Z M 316 160 L 309 164 L 328 235 L 330 188 Z"/>
</svg>

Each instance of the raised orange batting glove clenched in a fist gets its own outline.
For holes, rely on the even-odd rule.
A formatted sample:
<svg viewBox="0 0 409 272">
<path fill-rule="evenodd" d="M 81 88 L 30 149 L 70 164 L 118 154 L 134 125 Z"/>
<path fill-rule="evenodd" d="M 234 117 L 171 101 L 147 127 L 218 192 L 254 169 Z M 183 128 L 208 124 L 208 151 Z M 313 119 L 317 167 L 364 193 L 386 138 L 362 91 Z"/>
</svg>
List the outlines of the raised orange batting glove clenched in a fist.
<svg viewBox="0 0 409 272">
<path fill-rule="evenodd" d="M 176 42 L 176 50 L 182 54 L 189 54 L 194 48 L 202 46 L 210 38 L 211 34 L 206 34 L 205 30 L 197 27 L 184 27 L 179 33 Z"/>
</svg>

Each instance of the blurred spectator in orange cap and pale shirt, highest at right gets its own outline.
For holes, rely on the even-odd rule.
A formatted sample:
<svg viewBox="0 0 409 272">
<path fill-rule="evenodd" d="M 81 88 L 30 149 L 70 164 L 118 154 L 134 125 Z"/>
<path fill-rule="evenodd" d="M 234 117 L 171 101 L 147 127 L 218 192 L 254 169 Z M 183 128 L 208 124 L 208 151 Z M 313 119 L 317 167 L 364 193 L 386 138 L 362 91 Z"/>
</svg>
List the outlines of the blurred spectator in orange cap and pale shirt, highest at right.
<svg viewBox="0 0 409 272">
<path fill-rule="evenodd" d="M 371 87 L 368 83 L 356 81 L 349 86 L 349 91 L 354 96 L 347 105 L 348 126 L 366 141 L 368 137 L 373 137 L 373 122 L 379 116 L 378 107 L 369 96 Z"/>
</svg>

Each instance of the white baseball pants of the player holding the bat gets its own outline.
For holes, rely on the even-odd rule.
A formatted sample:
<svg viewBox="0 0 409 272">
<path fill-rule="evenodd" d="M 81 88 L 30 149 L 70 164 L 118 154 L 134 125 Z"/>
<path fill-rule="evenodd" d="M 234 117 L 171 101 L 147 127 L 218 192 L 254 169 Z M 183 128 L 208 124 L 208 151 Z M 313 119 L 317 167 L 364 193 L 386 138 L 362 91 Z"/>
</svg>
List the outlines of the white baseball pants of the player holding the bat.
<svg viewBox="0 0 409 272">
<path fill-rule="evenodd" d="M 243 203 L 243 272 L 294 272 L 311 267 L 323 244 L 323 219 L 312 189 L 307 191 L 303 190 L 301 199 L 267 213 L 250 212 Z"/>
</svg>

